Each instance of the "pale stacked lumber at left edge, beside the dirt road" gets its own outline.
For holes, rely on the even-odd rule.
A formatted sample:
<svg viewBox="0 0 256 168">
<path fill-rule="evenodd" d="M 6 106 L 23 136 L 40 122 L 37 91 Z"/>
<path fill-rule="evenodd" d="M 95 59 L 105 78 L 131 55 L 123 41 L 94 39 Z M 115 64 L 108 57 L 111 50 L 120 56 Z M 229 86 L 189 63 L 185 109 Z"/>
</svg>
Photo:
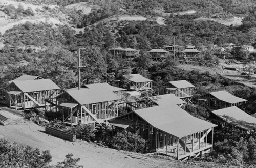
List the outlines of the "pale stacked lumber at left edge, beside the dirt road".
<svg viewBox="0 0 256 168">
<path fill-rule="evenodd" d="M 0 124 L 2 125 L 19 125 L 24 124 L 23 117 L 13 115 L 5 110 L 0 110 Z"/>
</svg>

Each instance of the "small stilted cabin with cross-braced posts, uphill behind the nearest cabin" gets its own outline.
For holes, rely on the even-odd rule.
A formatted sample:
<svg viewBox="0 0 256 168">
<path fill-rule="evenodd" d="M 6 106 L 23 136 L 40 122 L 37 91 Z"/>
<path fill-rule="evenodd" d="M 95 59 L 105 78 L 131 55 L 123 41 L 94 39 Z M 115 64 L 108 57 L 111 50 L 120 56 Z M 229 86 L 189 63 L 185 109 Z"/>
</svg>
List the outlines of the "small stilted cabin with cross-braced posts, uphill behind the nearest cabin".
<svg viewBox="0 0 256 168">
<path fill-rule="evenodd" d="M 174 94 L 181 100 L 193 104 L 194 87 L 186 80 L 169 81 L 160 87 L 159 94 Z"/>
</svg>

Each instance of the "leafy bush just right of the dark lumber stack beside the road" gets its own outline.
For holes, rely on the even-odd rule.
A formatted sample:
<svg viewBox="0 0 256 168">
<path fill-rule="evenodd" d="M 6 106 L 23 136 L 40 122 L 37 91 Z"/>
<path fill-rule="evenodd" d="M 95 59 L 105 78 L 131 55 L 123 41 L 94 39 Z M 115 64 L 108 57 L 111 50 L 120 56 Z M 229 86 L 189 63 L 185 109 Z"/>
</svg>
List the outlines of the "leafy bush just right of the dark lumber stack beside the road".
<svg viewBox="0 0 256 168">
<path fill-rule="evenodd" d="M 87 142 L 95 141 L 94 125 L 78 125 L 76 127 L 72 127 L 69 132 L 75 134 L 78 139 L 82 139 Z"/>
</svg>

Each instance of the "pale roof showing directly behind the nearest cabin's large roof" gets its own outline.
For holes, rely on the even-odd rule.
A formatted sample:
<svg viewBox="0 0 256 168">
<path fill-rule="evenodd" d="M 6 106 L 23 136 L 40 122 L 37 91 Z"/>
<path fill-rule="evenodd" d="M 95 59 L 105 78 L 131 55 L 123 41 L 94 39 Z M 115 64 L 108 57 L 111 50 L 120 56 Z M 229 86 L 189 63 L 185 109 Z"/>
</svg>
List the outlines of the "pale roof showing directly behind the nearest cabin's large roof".
<svg viewBox="0 0 256 168">
<path fill-rule="evenodd" d="M 178 104 L 186 104 L 183 100 L 175 96 L 174 94 L 165 94 L 165 95 L 159 95 L 159 96 L 154 96 L 152 99 L 156 99 L 155 102 L 158 105 L 166 105 L 166 104 L 173 104 L 173 105 L 178 105 Z"/>
</svg>

